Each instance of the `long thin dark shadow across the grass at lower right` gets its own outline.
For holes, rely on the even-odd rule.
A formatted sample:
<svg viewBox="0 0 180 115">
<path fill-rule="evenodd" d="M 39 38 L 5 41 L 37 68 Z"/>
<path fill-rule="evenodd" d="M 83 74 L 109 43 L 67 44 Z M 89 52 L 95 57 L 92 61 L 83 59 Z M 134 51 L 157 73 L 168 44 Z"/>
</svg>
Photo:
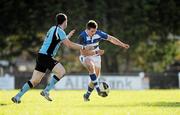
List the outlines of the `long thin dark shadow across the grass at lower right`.
<svg viewBox="0 0 180 115">
<path fill-rule="evenodd" d="M 96 108 L 96 107 L 103 107 L 103 108 L 123 108 L 123 107 L 140 107 L 140 106 L 146 106 L 146 107 L 180 107 L 180 102 L 142 102 L 142 103 L 134 103 L 134 104 L 107 104 L 104 105 L 98 105 L 98 104 L 87 104 L 87 105 L 74 105 L 74 107 L 82 107 L 82 108 Z"/>
</svg>

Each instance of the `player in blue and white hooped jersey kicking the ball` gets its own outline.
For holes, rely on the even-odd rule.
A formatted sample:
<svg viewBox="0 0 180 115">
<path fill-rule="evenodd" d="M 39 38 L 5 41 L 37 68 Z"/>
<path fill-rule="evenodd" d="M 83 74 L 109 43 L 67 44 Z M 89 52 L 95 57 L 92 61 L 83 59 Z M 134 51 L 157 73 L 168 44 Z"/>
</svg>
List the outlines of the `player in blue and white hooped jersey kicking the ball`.
<svg viewBox="0 0 180 115">
<path fill-rule="evenodd" d="M 80 50 L 80 61 L 85 66 L 89 72 L 91 82 L 88 84 L 87 92 L 83 95 L 84 101 L 89 101 L 89 96 L 95 88 L 98 92 L 98 95 L 103 97 L 103 93 L 99 93 L 99 84 L 98 77 L 100 76 L 101 71 L 101 55 L 104 54 L 104 50 L 99 49 L 99 42 L 106 40 L 111 42 L 114 45 L 123 47 L 125 49 L 129 48 L 128 44 L 123 43 L 119 39 L 111 36 L 101 30 L 97 30 L 98 24 L 94 20 L 90 20 L 86 24 L 86 30 L 84 30 L 78 38 L 78 42 L 84 46 L 93 46 L 93 50 Z M 94 53 L 95 52 L 95 53 Z"/>
</svg>

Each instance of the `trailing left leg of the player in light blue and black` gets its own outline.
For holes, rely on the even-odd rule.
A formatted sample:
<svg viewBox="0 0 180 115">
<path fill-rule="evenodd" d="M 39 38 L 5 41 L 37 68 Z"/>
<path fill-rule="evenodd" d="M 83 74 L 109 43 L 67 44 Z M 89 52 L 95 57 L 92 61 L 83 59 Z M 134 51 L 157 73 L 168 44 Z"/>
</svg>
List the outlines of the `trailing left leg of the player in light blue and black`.
<svg viewBox="0 0 180 115">
<path fill-rule="evenodd" d="M 19 91 L 19 93 L 12 97 L 11 100 L 14 103 L 21 103 L 20 98 L 32 87 L 35 87 L 37 84 L 39 84 L 39 82 L 41 81 L 41 79 L 43 78 L 45 73 L 39 72 L 37 70 L 33 71 L 33 75 L 32 78 L 23 85 L 22 89 Z"/>
</svg>

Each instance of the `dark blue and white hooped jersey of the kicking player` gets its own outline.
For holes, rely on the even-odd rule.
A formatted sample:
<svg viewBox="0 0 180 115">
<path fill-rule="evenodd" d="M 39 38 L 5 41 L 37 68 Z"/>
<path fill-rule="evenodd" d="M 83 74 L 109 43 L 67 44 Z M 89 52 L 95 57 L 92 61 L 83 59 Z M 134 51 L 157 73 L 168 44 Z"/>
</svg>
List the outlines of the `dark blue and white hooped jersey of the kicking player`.
<svg viewBox="0 0 180 115">
<path fill-rule="evenodd" d="M 79 44 L 85 46 L 94 46 L 95 50 L 99 50 L 99 42 L 102 40 L 107 40 L 107 38 L 108 34 L 101 30 L 97 30 L 92 37 L 88 36 L 86 31 L 83 31 L 79 35 Z"/>
</svg>

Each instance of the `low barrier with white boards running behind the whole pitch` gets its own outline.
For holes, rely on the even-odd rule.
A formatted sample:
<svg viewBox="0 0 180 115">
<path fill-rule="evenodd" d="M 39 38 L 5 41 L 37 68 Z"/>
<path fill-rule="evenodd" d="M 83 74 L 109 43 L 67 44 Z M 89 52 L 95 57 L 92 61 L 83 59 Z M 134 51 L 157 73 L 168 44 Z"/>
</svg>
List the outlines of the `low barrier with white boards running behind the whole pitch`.
<svg viewBox="0 0 180 115">
<path fill-rule="evenodd" d="M 31 72 L 15 73 L 0 76 L 0 89 L 19 89 L 31 78 Z M 35 88 L 44 88 L 50 74 L 42 79 Z M 101 81 L 109 83 L 111 89 L 139 90 L 139 89 L 167 89 L 180 88 L 180 73 L 139 73 L 134 75 L 102 75 Z M 86 89 L 89 82 L 88 75 L 66 75 L 55 89 Z"/>
</svg>

